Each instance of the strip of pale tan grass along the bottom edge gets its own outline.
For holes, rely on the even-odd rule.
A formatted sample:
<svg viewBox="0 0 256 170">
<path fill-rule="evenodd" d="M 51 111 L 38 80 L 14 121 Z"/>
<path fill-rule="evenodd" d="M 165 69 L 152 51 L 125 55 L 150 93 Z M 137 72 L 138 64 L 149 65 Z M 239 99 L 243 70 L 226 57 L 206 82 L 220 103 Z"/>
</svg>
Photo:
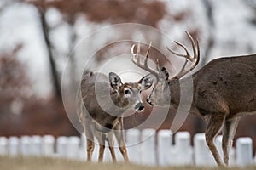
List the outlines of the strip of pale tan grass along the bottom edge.
<svg viewBox="0 0 256 170">
<path fill-rule="evenodd" d="M 207 168 L 207 167 L 145 167 L 125 163 L 87 163 L 83 161 L 71 161 L 49 157 L 0 157 L 1 170 L 213 170 L 224 168 Z M 231 168 L 233 170 L 247 169 L 254 170 L 256 167 Z"/>
</svg>

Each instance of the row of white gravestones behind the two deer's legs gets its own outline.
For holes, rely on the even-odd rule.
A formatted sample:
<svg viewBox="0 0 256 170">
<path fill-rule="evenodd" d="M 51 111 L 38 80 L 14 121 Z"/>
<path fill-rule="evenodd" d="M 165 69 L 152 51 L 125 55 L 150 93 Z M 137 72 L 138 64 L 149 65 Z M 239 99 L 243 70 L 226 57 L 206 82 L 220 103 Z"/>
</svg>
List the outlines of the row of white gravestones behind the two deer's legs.
<svg viewBox="0 0 256 170">
<path fill-rule="evenodd" d="M 207 147 L 204 133 L 195 134 L 194 146 L 190 144 L 188 132 L 178 132 L 174 136 L 169 130 L 154 129 L 130 129 L 125 132 L 128 156 L 132 163 L 148 166 L 216 166 L 210 150 Z M 221 156 L 221 136 L 215 141 Z M 115 142 L 114 150 L 118 161 L 123 161 L 122 156 Z M 92 161 L 97 161 L 98 144 L 95 144 L 95 151 Z M 86 160 L 86 140 L 72 136 L 61 136 L 55 139 L 53 136 L 22 136 L 0 137 L 0 156 L 58 156 L 68 159 Z M 256 156 L 255 156 L 256 157 Z M 104 162 L 111 161 L 110 152 L 106 147 Z M 250 138 L 236 140 L 236 150 L 230 150 L 230 166 L 244 167 L 255 164 L 253 159 L 253 141 Z"/>
</svg>

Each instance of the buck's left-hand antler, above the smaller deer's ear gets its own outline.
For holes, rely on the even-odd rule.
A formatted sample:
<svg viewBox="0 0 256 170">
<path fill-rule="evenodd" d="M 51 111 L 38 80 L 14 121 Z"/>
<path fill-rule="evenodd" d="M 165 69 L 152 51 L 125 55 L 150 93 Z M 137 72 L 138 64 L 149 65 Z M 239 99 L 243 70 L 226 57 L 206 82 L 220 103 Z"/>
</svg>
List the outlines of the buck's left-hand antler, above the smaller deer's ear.
<svg viewBox="0 0 256 170">
<path fill-rule="evenodd" d="M 154 70 L 152 70 L 148 67 L 148 54 L 149 54 L 149 50 L 151 48 L 151 45 L 152 45 L 152 42 L 149 43 L 148 50 L 147 50 L 147 53 L 145 55 L 145 60 L 144 60 L 143 63 L 141 63 L 141 61 L 140 61 L 140 50 L 141 50 L 140 49 L 140 42 L 137 45 L 137 53 L 136 54 L 134 54 L 135 44 L 133 44 L 132 47 L 131 47 L 131 61 L 135 65 L 137 65 L 138 67 L 142 68 L 143 70 L 150 72 L 155 77 L 158 77 L 158 72 L 160 71 L 158 59 L 156 59 L 156 71 L 154 71 Z"/>
</svg>

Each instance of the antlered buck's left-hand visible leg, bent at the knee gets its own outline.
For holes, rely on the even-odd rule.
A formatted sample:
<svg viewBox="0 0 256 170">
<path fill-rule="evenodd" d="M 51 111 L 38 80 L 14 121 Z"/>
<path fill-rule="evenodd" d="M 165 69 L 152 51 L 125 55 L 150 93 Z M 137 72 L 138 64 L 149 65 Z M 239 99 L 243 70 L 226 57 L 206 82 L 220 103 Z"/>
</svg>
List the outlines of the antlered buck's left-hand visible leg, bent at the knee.
<svg viewBox="0 0 256 170">
<path fill-rule="evenodd" d="M 209 149 L 212 152 L 212 156 L 214 157 L 215 161 L 218 163 L 218 166 L 225 167 L 224 162 L 219 156 L 218 150 L 214 144 L 214 139 L 219 133 L 221 127 L 223 127 L 225 119 L 224 113 L 213 113 L 209 123 L 207 125 L 207 131 L 206 131 L 206 141 Z"/>
</svg>

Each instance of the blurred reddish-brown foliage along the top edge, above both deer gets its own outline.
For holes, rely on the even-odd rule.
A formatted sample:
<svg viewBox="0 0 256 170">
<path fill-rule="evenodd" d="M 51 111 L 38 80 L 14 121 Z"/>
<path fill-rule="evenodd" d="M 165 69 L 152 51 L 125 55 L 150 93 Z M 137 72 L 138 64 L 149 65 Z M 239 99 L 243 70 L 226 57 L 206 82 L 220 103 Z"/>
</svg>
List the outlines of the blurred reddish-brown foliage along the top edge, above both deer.
<svg viewBox="0 0 256 170">
<path fill-rule="evenodd" d="M 85 14 L 85 18 L 92 22 L 135 22 L 155 27 L 166 14 L 165 5 L 160 1 L 43 0 L 26 2 L 31 2 L 42 9 L 57 8 L 68 22 L 73 22 L 77 14 Z"/>
</svg>

